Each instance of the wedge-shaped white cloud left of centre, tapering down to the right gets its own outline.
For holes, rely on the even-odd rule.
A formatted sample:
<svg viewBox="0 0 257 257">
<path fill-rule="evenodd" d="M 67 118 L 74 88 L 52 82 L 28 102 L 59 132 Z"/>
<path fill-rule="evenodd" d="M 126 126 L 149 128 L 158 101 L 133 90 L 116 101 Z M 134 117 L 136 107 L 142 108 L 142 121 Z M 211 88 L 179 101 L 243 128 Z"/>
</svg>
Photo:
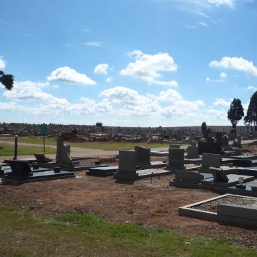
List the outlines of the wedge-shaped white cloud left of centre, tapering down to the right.
<svg viewBox="0 0 257 257">
<path fill-rule="evenodd" d="M 70 67 L 57 68 L 56 70 L 53 70 L 46 79 L 48 81 L 62 81 L 71 84 L 81 84 L 84 86 L 93 86 L 96 84 L 96 82 L 86 74 L 78 73 Z"/>
</svg>

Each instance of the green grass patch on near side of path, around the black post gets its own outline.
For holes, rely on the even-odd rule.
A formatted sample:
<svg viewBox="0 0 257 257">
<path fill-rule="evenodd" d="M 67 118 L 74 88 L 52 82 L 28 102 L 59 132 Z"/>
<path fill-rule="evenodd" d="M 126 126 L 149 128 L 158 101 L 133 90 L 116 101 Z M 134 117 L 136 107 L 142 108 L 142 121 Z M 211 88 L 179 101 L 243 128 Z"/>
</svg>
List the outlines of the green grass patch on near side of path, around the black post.
<svg viewBox="0 0 257 257">
<path fill-rule="evenodd" d="M 0 146 L 3 147 L 3 149 L 0 149 L 0 156 L 15 155 L 14 145 L 0 144 Z M 44 152 L 43 147 L 18 145 L 18 155 L 32 155 L 34 153 L 56 153 L 56 149 L 46 147 L 46 151 Z"/>
</svg>

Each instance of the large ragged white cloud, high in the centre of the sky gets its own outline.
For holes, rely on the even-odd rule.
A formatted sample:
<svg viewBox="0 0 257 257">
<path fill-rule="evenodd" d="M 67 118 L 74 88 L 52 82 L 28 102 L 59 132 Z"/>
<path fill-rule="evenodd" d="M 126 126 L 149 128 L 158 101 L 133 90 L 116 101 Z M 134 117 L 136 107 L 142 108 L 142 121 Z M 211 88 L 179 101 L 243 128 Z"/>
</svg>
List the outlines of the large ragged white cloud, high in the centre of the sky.
<svg viewBox="0 0 257 257">
<path fill-rule="evenodd" d="M 160 72 L 175 72 L 177 64 L 168 53 L 158 53 L 156 55 L 144 54 L 141 50 L 134 50 L 129 53 L 135 61 L 120 71 L 120 75 L 141 79 L 147 84 L 159 86 L 178 86 L 175 80 L 163 81 Z"/>
</svg>

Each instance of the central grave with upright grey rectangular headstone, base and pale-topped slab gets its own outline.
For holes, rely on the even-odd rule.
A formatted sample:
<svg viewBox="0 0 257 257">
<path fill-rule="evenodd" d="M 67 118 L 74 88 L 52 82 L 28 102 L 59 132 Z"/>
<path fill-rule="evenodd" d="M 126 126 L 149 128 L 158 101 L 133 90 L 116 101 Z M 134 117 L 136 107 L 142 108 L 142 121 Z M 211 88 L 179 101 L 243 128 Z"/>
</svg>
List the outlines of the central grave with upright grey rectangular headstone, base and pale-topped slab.
<svg viewBox="0 0 257 257">
<path fill-rule="evenodd" d="M 119 170 L 115 173 L 117 180 L 137 180 L 140 178 L 151 178 L 156 175 L 167 175 L 171 171 L 163 169 L 137 170 L 137 158 L 135 151 L 119 151 Z"/>
</svg>

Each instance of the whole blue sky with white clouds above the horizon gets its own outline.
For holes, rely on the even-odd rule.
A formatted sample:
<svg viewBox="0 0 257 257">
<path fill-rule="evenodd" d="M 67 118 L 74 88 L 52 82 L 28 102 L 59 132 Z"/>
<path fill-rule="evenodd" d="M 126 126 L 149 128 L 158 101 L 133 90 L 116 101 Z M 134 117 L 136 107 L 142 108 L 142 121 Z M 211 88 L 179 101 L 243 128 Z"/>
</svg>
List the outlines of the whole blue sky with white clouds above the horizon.
<svg viewBox="0 0 257 257">
<path fill-rule="evenodd" d="M 227 125 L 257 89 L 256 21 L 254 0 L 1 0 L 0 122 Z"/>
</svg>

